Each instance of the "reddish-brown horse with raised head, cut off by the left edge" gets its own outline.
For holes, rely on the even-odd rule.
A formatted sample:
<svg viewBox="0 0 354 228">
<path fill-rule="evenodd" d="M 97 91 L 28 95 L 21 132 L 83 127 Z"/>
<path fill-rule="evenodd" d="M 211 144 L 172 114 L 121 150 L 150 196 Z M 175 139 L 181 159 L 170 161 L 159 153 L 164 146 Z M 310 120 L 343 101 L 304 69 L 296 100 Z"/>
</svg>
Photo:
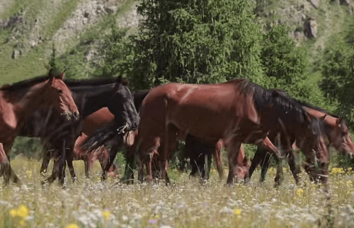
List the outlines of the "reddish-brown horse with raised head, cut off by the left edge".
<svg viewBox="0 0 354 228">
<path fill-rule="evenodd" d="M 0 142 L 8 159 L 6 167 L 2 170 L 5 184 L 10 178 L 13 182 L 19 182 L 9 165 L 8 156 L 13 141 L 28 116 L 39 108 L 52 107 L 59 113 L 61 121 L 61 116 L 66 116 L 67 119 L 71 116 L 79 117 L 71 92 L 62 80 L 64 75 L 63 72 L 59 78 L 55 78 L 53 69 L 50 69 L 48 76 L 31 78 L 0 88 Z M 62 166 L 63 163 L 58 165 Z"/>
</svg>

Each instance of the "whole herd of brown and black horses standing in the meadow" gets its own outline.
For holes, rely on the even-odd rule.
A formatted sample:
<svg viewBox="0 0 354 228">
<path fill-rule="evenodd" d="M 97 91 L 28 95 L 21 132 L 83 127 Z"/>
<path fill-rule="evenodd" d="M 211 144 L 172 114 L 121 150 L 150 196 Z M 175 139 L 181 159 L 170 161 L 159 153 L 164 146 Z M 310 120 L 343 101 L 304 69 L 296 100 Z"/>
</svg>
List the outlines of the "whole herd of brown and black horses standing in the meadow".
<svg viewBox="0 0 354 228">
<path fill-rule="evenodd" d="M 277 89 L 264 89 L 246 79 L 216 84 L 167 83 L 130 92 L 127 81 L 116 79 L 64 80 L 64 73 L 31 78 L 0 88 L 0 175 L 4 183 L 19 182 L 9 162 L 17 135 L 40 137 L 41 173 L 50 158 L 53 170 L 45 182 L 64 182 L 66 164 L 76 179 L 72 161 L 83 159 L 88 175 L 99 160 L 102 179 L 115 170 L 113 160 L 125 149 L 123 181 L 131 182 L 135 157 L 138 178 L 169 182 L 168 161 L 180 139 L 191 174 L 208 178 L 211 156 L 222 177 L 221 148 L 229 164 L 227 183 L 248 180 L 261 164 L 265 178 L 269 158 L 277 161 L 275 184 L 282 181 L 285 157 L 296 183 L 300 167 L 293 147 L 305 156 L 305 171 L 313 181 L 328 181 L 328 146 L 353 157 L 354 143 L 342 117 L 292 99 Z M 257 145 L 249 164 L 241 143 Z M 107 145 L 110 146 L 108 149 Z M 270 152 L 270 153 L 269 153 Z"/>
</svg>

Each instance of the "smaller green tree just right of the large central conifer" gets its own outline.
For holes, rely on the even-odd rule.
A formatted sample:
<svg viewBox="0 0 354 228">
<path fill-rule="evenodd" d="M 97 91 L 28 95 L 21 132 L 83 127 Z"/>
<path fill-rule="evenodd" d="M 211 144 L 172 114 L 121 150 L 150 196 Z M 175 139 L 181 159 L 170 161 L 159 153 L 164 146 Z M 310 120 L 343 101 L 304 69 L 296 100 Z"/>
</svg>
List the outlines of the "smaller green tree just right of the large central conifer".
<svg viewBox="0 0 354 228">
<path fill-rule="evenodd" d="M 296 47 L 284 24 L 269 26 L 263 35 L 261 62 L 266 81 L 264 86 L 279 88 L 294 98 L 307 100 L 311 86 L 306 82 L 307 57 L 305 51 Z"/>
</svg>

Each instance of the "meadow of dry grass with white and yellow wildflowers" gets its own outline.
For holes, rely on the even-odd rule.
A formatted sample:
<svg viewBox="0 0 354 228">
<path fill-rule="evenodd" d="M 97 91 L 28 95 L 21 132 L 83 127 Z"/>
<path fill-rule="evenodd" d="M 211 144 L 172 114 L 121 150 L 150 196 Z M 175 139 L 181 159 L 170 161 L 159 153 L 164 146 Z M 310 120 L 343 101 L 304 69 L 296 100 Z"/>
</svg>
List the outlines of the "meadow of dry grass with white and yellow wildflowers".
<svg viewBox="0 0 354 228">
<path fill-rule="evenodd" d="M 275 189 L 274 168 L 265 184 L 259 183 L 258 171 L 249 183 L 227 186 L 213 169 L 204 184 L 172 169 L 170 186 L 125 185 L 112 177 L 101 182 L 98 163 L 91 177 L 84 178 L 83 162 L 75 161 L 78 181 L 68 178 L 62 189 L 57 181 L 40 184 L 39 161 L 17 158 L 11 164 L 22 183 L 1 185 L 0 227 L 354 226 L 354 173 L 336 167 L 330 168 L 325 191 L 305 173 L 295 185 L 288 170 Z"/>
</svg>

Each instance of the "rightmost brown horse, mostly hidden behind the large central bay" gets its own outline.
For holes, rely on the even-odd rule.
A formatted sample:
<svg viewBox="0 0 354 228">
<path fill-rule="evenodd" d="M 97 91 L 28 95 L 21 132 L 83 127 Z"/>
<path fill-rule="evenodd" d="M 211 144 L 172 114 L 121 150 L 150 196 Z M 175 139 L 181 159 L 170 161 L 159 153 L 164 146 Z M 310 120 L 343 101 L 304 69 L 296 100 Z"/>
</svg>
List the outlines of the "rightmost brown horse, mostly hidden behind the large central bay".
<svg viewBox="0 0 354 228">
<path fill-rule="evenodd" d="M 324 133 L 325 136 L 328 138 L 329 145 L 333 146 L 337 151 L 341 152 L 341 154 L 345 154 L 353 157 L 354 143 L 348 131 L 348 126 L 342 117 L 339 118 L 338 116 L 330 114 L 319 107 L 314 107 L 312 105 L 301 102 L 299 100 L 297 100 L 297 102 L 299 102 L 299 104 L 303 106 L 303 108 L 308 112 L 310 116 L 317 117 L 317 118 L 324 116 L 323 118 Z M 295 155 L 293 153 L 293 150 L 289 149 L 286 152 L 287 152 L 286 153 L 287 162 L 289 164 L 295 182 L 296 184 L 298 184 L 299 183 L 298 174 L 300 172 L 300 167 L 295 163 Z M 255 167 L 258 164 L 261 164 L 260 176 L 261 176 L 261 181 L 264 181 L 269 166 L 269 159 L 270 159 L 270 154 L 267 153 L 267 150 L 258 147 L 251 162 L 251 166 L 249 169 L 249 176 L 252 175 Z M 311 177 L 311 179 L 313 178 Z"/>
</svg>

